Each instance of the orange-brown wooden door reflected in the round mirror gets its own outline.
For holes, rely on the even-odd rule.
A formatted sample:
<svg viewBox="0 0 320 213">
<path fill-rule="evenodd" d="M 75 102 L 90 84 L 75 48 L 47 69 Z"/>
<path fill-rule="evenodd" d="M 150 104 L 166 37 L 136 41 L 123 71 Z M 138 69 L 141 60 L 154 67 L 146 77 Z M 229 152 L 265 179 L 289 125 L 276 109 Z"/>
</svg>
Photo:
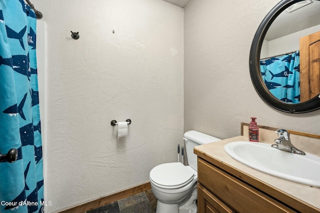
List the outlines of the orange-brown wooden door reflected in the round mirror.
<svg viewBox="0 0 320 213">
<path fill-rule="evenodd" d="M 320 93 L 320 31 L 300 38 L 300 102 Z"/>
</svg>

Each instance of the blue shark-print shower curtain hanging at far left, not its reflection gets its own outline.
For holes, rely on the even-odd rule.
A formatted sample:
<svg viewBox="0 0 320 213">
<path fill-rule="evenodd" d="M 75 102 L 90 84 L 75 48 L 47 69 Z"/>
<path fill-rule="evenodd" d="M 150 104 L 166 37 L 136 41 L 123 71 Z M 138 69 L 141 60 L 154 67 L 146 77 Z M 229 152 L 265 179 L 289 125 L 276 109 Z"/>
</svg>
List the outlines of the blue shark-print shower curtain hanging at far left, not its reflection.
<svg viewBox="0 0 320 213">
<path fill-rule="evenodd" d="M 23 0 L 0 0 L 0 213 L 43 212 L 36 16 Z"/>
</svg>

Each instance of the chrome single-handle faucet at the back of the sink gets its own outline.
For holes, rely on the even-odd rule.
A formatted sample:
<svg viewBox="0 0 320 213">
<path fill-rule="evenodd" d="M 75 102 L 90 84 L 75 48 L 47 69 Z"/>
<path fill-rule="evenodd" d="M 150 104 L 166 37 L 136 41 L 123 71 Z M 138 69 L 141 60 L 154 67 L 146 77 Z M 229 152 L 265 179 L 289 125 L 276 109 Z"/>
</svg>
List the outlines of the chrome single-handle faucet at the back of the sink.
<svg viewBox="0 0 320 213">
<path fill-rule="evenodd" d="M 274 139 L 275 144 L 271 145 L 273 148 L 283 150 L 286 152 L 291 152 L 291 153 L 298 154 L 298 155 L 305 155 L 305 153 L 303 151 L 295 148 L 291 144 L 290 133 L 288 133 L 286 130 L 278 129 L 275 131 L 275 133 L 278 134 L 279 138 Z"/>
</svg>

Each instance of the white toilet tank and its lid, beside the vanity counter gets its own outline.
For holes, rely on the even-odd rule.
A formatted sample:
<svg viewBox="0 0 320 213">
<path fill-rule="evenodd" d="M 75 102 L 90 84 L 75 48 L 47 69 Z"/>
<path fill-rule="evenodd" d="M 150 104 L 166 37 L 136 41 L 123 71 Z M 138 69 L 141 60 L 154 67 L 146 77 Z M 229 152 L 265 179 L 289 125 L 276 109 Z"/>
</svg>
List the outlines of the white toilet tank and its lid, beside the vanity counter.
<svg viewBox="0 0 320 213">
<path fill-rule="evenodd" d="M 195 130 L 188 131 L 184 133 L 184 141 L 185 141 L 185 151 L 186 151 L 186 159 L 188 161 L 188 165 L 192 167 L 195 171 L 198 171 L 197 166 L 197 156 L 193 153 L 193 147 L 208 144 L 215 141 L 220 141 L 221 139 L 215 138 L 210 135 L 206 135 L 201 132 L 197 132 Z"/>
</svg>

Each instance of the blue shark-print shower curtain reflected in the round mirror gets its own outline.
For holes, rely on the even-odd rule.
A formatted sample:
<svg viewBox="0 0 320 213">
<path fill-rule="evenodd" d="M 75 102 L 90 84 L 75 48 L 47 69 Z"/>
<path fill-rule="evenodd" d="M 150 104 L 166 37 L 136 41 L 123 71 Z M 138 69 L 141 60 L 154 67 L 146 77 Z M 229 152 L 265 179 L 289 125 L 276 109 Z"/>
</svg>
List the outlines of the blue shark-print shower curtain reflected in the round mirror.
<svg viewBox="0 0 320 213">
<path fill-rule="evenodd" d="M 286 103 L 300 103 L 299 65 L 299 51 L 260 60 L 265 86 L 277 99 Z"/>
</svg>

